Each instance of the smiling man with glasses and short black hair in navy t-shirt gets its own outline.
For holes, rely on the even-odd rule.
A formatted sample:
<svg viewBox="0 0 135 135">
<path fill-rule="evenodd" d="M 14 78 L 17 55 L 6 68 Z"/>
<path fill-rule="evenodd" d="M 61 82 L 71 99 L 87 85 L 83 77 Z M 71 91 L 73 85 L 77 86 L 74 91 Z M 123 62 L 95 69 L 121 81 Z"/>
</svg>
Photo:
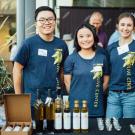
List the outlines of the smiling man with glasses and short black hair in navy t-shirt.
<svg viewBox="0 0 135 135">
<path fill-rule="evenodd" d="M 56 14 L 50 7 L 35 11 L 37 34 L 23 41 L 13 68 L 15 93 L 31 93 L 33 106 L 39 96 L 44 102 L 48 89 L 56 98 L 56 88 L 61 87 L 63 63 L 68 56 L 66 43 L 54 36 Z"/>
</svg>

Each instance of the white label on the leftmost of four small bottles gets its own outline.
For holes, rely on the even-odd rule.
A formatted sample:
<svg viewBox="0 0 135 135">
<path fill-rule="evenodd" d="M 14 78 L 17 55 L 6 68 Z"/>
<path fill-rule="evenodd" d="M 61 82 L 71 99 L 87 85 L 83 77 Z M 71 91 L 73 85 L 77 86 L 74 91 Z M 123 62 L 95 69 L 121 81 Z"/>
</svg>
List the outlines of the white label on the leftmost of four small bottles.
<svg viewBox="0 0 135 135">
<path fill-rule="evenodd" d="M 62 113 L 55 113 L 55 129 L 62 129 Z"/>
</svg>

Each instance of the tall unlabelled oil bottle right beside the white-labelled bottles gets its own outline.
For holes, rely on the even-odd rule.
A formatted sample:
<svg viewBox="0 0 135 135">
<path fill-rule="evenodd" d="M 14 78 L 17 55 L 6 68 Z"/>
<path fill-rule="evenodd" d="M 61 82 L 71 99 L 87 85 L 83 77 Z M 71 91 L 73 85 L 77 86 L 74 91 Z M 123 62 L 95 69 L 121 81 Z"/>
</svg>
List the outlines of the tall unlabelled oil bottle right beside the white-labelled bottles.
<svg viewBox="0 0 135 135">
<path fill-rule="evenodd" d="M 46 121 L 47 121 L 47 131 L 54 131 L 54 111 L 55 106 L 53 99 L 51 98 L 51 89 L 48 89 L 48 97 L 46 99 Z"/>
</svg>

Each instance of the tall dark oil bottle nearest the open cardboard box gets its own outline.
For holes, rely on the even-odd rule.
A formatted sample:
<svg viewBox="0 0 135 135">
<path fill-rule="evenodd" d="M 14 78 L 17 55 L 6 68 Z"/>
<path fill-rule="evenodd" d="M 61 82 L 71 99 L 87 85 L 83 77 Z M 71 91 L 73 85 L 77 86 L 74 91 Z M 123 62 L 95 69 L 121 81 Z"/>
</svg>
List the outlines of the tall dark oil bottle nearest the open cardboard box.
<svg viewBox="0 0 135 135">
<path fill-rule="evenodd" d="M 37 89 L 37 99 L 34 104 L 35 108 L 35 123 L 36 131 L 43 132 L 43 120 L 44 120 L 44 105 L 39 97 L 39 89 Z"/>
</svg>

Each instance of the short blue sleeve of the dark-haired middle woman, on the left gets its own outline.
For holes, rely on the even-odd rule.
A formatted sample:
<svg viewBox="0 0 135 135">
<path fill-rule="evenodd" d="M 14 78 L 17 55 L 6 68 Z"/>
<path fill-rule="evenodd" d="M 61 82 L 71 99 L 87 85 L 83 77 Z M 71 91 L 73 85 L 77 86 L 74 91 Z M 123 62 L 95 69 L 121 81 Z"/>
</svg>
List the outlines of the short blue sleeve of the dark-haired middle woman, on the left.
<svg viewBox="0 0 135 135">
<path fill-rule="evenodd" d="M 74 63 L 71 55 L 69 55 L 64 62 L 64 74 L 72 74 Z"/>
</svg>

